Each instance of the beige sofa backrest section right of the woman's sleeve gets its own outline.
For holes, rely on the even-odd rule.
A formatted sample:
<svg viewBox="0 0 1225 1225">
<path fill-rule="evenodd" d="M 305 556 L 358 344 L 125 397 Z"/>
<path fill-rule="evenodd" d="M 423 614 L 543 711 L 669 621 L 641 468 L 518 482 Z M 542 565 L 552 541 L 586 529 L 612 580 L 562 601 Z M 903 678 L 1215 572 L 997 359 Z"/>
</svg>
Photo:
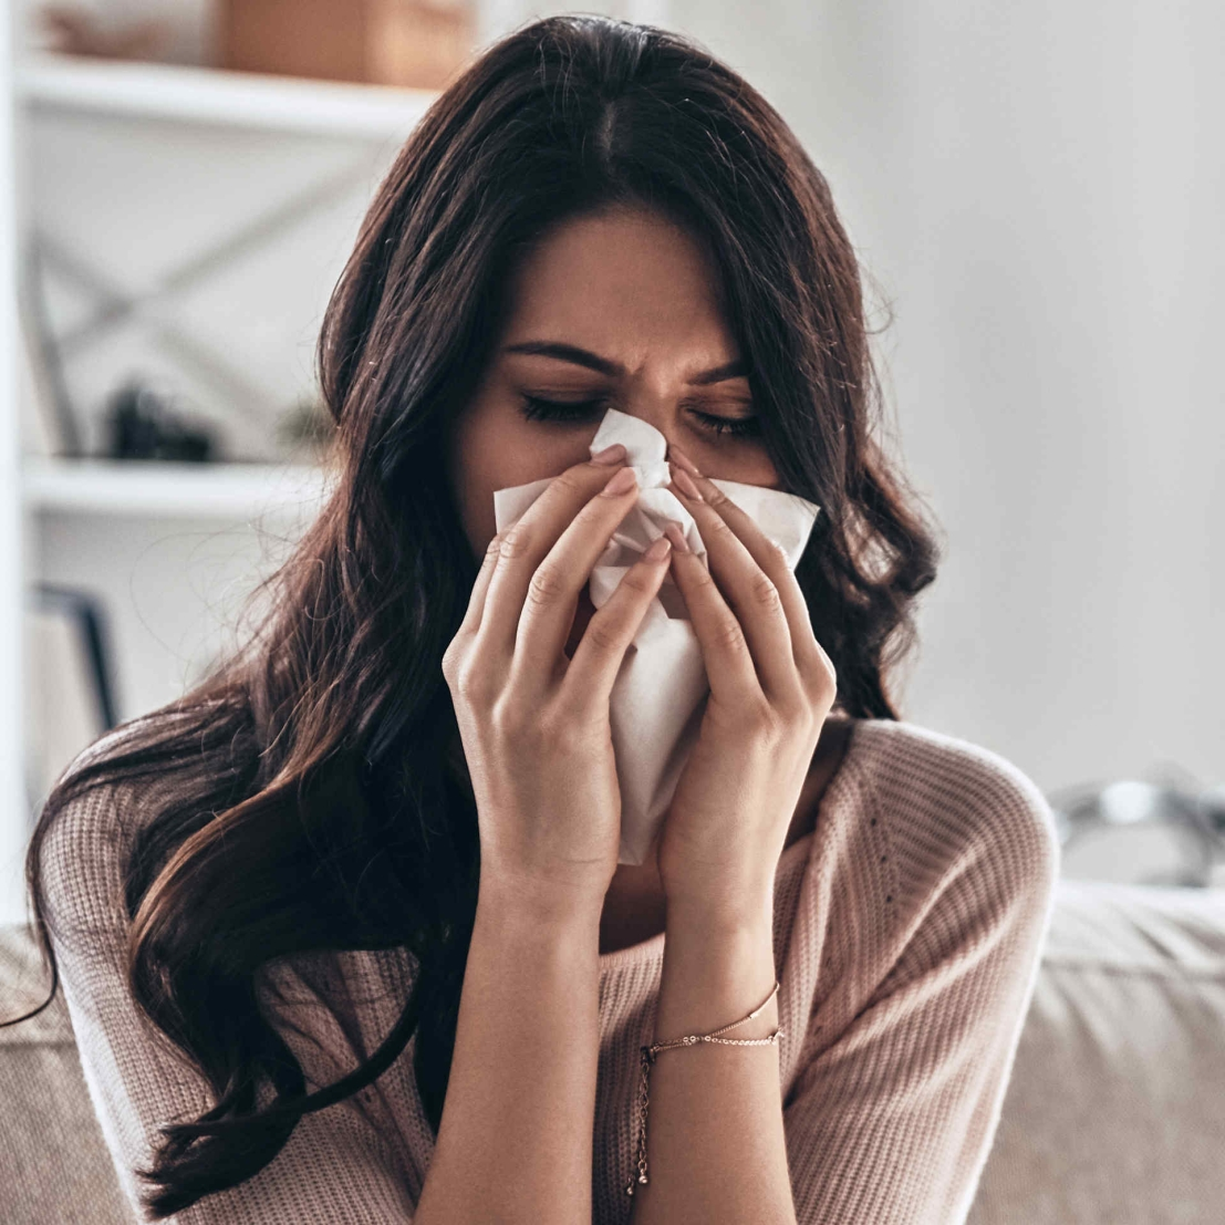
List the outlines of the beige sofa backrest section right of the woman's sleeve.
<svg viewBox="0 0 1225 1225">
<path fill-rule="evenodd" d="M 1221 1219 L 1223 1137 L 1225 891 L 1061 881 L 971 1225 Z"/>
</svg>

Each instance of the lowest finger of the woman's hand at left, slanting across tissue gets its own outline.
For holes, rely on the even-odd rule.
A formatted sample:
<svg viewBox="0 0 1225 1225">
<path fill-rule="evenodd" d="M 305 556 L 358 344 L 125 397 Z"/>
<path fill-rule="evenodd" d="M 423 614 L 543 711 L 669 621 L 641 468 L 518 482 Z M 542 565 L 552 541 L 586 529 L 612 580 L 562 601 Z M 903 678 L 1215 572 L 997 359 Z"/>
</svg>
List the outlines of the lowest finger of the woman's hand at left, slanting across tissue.
<svg viewBox="0 0 1225 1225">
<path fill-rule="evenodd" d="M 657 550 L 658 546 L 658 550 Z M 653 550 L 655 550 L 653 552 Z M 671 546 L 660 537 L 622 576 L 588 621 L 562 682 L 562 703 L 576 710 L 606 706 L 633 636 L 668 573 Z"/>
</svg>

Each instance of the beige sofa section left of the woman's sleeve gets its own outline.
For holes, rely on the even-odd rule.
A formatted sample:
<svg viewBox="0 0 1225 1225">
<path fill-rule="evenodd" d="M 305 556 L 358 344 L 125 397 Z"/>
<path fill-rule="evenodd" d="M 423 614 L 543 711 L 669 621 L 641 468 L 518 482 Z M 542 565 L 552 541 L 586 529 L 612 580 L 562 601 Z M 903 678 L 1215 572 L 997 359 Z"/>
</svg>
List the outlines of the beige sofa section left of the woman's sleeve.
<svg viewBox="0 0 1225 1225">
<path fill-rule="evenodd" d="M 48 985 L 28 930 L 0 927 L 2 1016 L 36 1007 Z M 5 1225 L 131 1225 L 61 992 L 37 1017 L 0 1029 L 0 1104 Z"/>
</svg>

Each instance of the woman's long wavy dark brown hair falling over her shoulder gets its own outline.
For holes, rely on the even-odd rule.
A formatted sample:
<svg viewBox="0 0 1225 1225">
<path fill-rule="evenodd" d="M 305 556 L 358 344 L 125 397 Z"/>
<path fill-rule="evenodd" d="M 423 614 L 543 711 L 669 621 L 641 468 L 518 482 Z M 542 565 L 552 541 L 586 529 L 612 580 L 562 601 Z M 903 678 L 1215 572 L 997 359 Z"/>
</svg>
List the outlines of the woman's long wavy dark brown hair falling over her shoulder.
<svg viewBox="0 0 1225 1225">
<path fill-rule="evenodd" d="M 162 1128 L 142 1171 L 158 1218 L 251 1177 L 304 1114 L 370 1084 L 414 1034 L 437 1129 L 480 850 L 441 671 L 479 559 L 442 448 L 514 261 L 562 218 L 619 205 L 659 209 L 712 252 L 764 446 L 783 488 L 823 508 L 795 573 L 837 704 L 898 718 L 886 677 L 938 550 L 881 441 L 860 271 L 824 178 L 761 94 L 676 34 L 556 17 L 502 39 L 412 134 L 332 294 L 317 363 L 334 489 L 252 597 L 266 600 L 255 632 L 65 771 L 29 848 L 54 997 L 48 832 L 92 788 L 141 788 L 129 986 L 216 1098 Z M 417 958 L 399 1019 L 307 1093 L 257 974 L 377 948 Z"/>
</svg>

